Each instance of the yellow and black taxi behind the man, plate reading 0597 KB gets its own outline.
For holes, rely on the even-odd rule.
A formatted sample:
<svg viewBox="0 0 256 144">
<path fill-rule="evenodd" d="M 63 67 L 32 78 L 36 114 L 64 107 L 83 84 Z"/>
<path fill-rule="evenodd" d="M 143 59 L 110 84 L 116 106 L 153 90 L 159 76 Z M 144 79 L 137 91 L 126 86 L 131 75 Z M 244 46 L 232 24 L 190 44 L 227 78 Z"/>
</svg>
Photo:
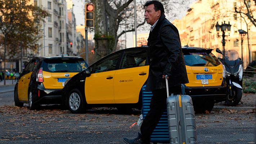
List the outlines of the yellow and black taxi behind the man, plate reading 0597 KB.
<svg viewBox="0 0 256 144">
<path fill-rule="evenodd" d="M 185 91 L 199 109 L 211 111 L 215 102 L 225 101 L 223 66 L 212 49 L 183 47 L 189 84 Z M 91 64 L 67 80 L 62 89 L 63 104 L 72 113 L 86 106 L 141 108 L 142 87 L 149 73 L 148 48 L 116 51 Z"/>
</svg>

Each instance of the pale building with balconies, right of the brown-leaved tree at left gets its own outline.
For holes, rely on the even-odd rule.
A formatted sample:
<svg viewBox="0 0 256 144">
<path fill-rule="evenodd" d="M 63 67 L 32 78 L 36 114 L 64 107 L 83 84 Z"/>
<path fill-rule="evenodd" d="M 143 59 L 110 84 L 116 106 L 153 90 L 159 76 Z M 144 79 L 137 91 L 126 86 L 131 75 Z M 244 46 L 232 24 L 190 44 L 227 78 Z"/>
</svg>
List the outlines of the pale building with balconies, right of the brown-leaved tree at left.
<svg viewBox="0 0 256 144">
<path fill-rule="evenodd" d="M 42 23 L 42 38 L 38 41 L 38 56 L 67 54 L 66 0 L 33 0 L 34 5 L 46 9 L 49 16 Z"/>
</svg>

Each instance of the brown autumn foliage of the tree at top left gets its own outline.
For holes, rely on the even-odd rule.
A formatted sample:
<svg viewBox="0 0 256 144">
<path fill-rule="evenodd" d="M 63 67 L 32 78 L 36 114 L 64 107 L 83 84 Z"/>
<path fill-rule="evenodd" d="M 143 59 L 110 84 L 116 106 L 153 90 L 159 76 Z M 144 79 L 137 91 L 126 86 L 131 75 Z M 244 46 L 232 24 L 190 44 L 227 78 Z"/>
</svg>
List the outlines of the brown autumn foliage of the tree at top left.
<svg viewBox="0 0 256 144">
<path fill-rule="evenodd" d="M 9 58 L 17 57 L 20 48 L 36 49 L 41 38 L 40 21 L 49 13 L 30 4 L 30 0 L 0 0 L 0 32 L 6 38 L 6 53 Z M 4 45 L 3 40 L 0 45 Z"/>
</svg>

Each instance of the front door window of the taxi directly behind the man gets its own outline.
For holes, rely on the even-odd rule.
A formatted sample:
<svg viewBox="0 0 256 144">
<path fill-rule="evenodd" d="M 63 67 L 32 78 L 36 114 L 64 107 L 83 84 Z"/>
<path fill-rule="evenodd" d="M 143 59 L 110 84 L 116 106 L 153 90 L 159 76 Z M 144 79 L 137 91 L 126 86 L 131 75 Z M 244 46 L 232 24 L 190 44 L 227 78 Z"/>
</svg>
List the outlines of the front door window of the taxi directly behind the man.
<svg viewBox="0 0 256 144">
<path fill-rule="evenodd" d="M 103 59 L 99 63 L 97 63 L 96 66 L 94 67 L 93 73 L 115 70 L 118 60 L 120 58 L 120 54 L 121 53 L 114 54 L 108 58 Z"/>
</svg>

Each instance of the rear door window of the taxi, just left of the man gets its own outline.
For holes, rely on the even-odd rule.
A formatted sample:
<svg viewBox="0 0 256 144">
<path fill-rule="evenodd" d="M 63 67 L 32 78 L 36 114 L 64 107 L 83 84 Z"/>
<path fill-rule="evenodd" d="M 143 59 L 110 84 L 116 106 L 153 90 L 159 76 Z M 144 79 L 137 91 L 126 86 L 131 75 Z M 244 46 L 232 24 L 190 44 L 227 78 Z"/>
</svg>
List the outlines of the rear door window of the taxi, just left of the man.
<svg viewBox="0 0 256 144">
<path fill-rule="evenodd" d="M 121 69 L 140 67 L 140 66 L 146 66 L 146 65 L 148 65 L 147 51 L 145 50 L 125 51 L 124 57 L 121 62 Z"/>
</svg>

